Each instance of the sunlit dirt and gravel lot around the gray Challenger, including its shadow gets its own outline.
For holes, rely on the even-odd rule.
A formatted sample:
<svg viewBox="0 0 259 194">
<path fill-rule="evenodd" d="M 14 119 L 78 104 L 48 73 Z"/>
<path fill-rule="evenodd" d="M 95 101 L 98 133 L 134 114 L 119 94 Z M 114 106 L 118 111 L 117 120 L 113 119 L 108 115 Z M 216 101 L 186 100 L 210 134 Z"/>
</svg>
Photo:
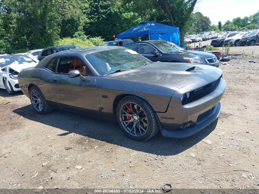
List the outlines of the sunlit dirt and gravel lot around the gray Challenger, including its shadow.
<svg viewBox="0 0 259 194">
<path fill-rule="evenodd" d="M 0 188 L 259 188 L 259 56 L 234 57 L 220 66 L 218 121 L 184 139 L 135 142 L 117 124 L 38 115 L 25 95 L 1 89 Z"/>
</svg>

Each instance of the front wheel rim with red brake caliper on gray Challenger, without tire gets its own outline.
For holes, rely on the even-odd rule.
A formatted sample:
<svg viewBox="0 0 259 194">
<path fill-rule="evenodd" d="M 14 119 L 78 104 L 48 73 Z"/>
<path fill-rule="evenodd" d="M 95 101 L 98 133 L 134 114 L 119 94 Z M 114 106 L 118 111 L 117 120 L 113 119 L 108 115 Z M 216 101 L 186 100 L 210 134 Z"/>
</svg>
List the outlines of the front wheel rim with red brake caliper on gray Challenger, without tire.
<svg viewBox="0 0 259 194">
<path fill-rule="evenodd" d="M 120 122 L 124 130 L 134 137 L 145 135 L 148 129 L 147 114 L 134 102 L 126 102 L 120 107 Z"/>
</svg>

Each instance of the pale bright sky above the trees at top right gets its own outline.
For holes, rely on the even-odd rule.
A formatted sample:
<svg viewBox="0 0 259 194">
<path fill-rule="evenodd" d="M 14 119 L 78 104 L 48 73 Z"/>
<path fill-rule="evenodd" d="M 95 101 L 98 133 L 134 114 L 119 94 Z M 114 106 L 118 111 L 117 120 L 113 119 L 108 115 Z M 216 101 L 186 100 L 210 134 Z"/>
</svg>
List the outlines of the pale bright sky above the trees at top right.
<svg viewBox="0 0 259 194">
<path fill-rule="evenodd" d="M 223 25 L 235 17 L 250 16 L 258 10 L 259 0 L 198 0 L 194 7 L 194 12 L 201 12 L 215 25 L 218 25 L 219 21 Z"/>
</svg>

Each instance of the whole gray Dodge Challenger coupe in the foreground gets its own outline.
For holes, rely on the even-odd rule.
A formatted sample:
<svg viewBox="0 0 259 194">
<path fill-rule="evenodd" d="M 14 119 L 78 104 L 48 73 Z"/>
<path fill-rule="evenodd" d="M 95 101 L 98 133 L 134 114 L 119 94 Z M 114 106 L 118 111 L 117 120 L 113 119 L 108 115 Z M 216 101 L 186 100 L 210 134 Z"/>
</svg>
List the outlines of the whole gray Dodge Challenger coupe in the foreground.
<svg viewBox="0 0 259 194">
<path fill-rule="evenodd" d="M 151 62 L 116 46 L 49 55 L 21 71 L 18 82 L 39 114 L 57 108 L 117 120 L 139 141 L 158 131 L 171 138 L 200 131 L 219 117 L 226 89 L 217 67 Z"/>
</svg>

